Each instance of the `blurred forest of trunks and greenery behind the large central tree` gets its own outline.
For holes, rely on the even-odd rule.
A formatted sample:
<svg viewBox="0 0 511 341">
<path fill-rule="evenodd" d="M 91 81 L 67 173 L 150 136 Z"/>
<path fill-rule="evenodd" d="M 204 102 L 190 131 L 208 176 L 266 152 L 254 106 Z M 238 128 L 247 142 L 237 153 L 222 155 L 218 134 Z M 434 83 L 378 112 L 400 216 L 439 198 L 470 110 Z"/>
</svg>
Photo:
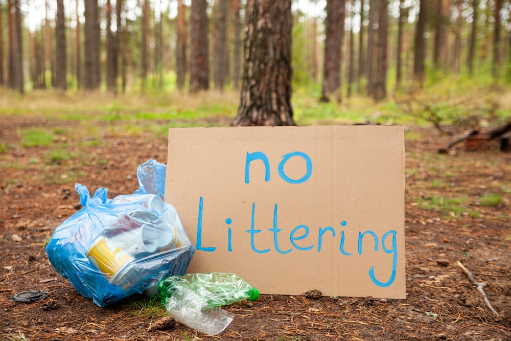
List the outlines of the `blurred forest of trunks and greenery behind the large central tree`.
<svg viewBox="0 0 511 341">
<path fill-rule="evenodd" d="M 0 84 L 20 94 L 239 94 L 253 3 L 0 0 Z M 393 101 L 437 128 L 509 117 L 496 104 L 511 101 L 508 0 L 292 0 L 289 15 L 294 94 Z"/>
</svg>

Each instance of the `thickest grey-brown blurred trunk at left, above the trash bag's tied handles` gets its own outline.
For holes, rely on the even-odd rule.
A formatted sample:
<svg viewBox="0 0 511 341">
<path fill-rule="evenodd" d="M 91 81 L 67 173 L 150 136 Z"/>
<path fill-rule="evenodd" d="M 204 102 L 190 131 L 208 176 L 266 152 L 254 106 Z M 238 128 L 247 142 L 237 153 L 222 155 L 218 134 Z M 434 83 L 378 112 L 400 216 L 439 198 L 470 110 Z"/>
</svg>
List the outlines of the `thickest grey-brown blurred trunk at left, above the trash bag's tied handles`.
<svg viewBox="0 0 511 341">
<path fill-rule="evenodd" d="M 100 29 L 98 21 L 98 0 L 85 1 L 85 89 L 100 86 Z"/>
</svg>

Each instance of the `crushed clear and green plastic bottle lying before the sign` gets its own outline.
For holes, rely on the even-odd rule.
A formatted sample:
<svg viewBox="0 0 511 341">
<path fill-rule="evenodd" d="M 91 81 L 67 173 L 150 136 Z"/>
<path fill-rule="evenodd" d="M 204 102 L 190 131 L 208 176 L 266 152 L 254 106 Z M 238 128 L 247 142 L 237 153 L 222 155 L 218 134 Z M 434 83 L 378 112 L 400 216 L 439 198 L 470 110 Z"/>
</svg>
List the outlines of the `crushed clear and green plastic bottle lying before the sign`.
<svg viewBox="0 0 511 341">
<path fill-rule="evenodd" d="M 219 307 L 259 298 L 259 290 L 228 272 L 171 276 L 158 287 L 161 303 L 174 319 L 208 335 L 220 333 L 233 321 L 234 315 Z"/>
</svg>

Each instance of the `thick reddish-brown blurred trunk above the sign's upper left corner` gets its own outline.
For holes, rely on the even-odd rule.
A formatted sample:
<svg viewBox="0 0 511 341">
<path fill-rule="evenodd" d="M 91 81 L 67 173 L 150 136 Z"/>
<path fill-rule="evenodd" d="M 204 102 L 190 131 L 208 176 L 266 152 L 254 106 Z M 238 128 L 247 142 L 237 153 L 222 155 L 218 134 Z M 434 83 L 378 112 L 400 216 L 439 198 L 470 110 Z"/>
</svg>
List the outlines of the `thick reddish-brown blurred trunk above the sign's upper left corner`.
<svg viewBox="0 0 511 341">
<path fill-rule="evenodd" d="M 210 87 L 206 10 L 206 0 L 192 0 L 190 17 L 190 91 L 192 93 L 207 90 Z"/>
</svg>

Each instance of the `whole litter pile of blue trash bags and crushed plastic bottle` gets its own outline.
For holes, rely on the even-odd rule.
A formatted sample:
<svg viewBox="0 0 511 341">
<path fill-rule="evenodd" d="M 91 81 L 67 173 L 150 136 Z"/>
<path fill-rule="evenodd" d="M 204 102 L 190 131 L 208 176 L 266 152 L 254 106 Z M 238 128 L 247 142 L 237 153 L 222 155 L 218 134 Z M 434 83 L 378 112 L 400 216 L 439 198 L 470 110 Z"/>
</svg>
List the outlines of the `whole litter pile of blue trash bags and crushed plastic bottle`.
<svg viewBox="0 0 511 341">
<path fill-rule="evenodd" d="M 134 194 L 90 197 L 76 184 L 83 208 L 54 232 L 46 250 L 55 270 L 100 307 L 135 293 L 159 296 L 177 321 L 216 335 L 234 315 L 219 308 L 259 291 L 235 274 L 186 274 L 195 247 L 174 207 L 164 201 L 166 166 L 149 160 L 137 170 Z"/>
</svg>

